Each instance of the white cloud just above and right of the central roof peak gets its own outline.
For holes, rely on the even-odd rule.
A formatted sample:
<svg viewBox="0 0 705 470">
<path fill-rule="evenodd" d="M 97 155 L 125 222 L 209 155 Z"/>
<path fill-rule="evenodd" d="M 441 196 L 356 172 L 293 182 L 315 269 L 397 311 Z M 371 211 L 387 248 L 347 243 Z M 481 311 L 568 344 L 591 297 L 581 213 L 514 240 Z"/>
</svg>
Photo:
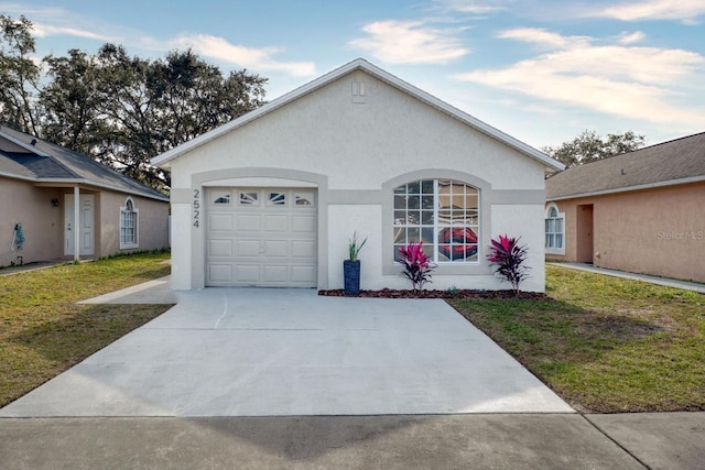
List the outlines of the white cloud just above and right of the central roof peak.
<svg viewBox="0 0 705 470">
<path fill-rule="evenodd" d="M 367 36 L 348 45 L 390 64 L 446 64 L 470 52 L 456 37 L 459 30 L 429 28 L 422 21 L 377 21 L 362 31 Z"/>
</svg>

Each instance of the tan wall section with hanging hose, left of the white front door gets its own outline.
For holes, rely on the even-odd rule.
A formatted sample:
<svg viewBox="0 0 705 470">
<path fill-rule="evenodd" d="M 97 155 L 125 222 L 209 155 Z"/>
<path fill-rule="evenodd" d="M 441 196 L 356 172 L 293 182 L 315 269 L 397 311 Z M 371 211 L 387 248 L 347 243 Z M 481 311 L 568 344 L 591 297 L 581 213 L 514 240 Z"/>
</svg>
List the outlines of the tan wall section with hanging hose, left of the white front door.
<svg viewBox="0 0 705 470">
<path fill-rule="evenodd" d="M 0 177 L 0 266 L 48 260 L 63 255 L 62 209 L 52 206 L 58 189 L 37 188 L 30 182 Z M 15 223 L 22 223 L 25 242 L 12 251 Z"/>
</svg>

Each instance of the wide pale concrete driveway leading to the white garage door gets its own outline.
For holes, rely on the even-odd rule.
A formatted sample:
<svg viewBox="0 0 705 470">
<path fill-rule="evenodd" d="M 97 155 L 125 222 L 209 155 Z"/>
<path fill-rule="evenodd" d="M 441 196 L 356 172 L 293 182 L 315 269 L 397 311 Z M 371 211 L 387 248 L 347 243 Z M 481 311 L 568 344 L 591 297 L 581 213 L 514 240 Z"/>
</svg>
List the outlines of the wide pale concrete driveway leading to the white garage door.
<svg viewBox="0 0 705 470">
<path fill-rule="evenodd" d="M 176 297 L 0 417 L 573 413 L 442 300 L 263 288 Z"/>
</svg>

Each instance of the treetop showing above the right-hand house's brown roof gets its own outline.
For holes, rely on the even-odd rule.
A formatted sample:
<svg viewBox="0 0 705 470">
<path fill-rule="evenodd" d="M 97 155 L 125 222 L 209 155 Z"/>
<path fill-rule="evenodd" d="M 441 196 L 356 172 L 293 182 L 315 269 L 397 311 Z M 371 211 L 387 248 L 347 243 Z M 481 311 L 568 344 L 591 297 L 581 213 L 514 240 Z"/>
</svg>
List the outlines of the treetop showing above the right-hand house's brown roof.
<svg viewBox="0 0 705 470">
<path fill-rule="evenodd" d="M 623 134 L 607 134 L 603 138 L 595 131 L 583 131 L 577 138 L 560 146 L 543 147 L 542 151 L 563 163 L 566 168 L 633 152 L 644 144 L 644 136 L 632 131 Z"/>
</svg>

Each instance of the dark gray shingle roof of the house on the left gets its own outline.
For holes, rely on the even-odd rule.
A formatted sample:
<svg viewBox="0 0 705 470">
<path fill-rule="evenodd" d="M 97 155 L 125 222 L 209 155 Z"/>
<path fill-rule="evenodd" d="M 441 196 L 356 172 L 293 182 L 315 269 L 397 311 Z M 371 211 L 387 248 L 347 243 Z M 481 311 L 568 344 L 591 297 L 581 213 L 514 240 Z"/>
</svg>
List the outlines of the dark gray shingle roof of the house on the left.
<svg viewBox="0 0 705 470">
<path fill-rule="evenodd" d="M 0 150 L 0 173 L 35 181 L 51 179 L 96 185 L 161 200 L 166 196 L 95 160 L 42 139 L 0 127 L 0 138 L 24 143 L 25 152 Z M 32 142 L 34 141 L 34 144 Z"/>
</svg>

